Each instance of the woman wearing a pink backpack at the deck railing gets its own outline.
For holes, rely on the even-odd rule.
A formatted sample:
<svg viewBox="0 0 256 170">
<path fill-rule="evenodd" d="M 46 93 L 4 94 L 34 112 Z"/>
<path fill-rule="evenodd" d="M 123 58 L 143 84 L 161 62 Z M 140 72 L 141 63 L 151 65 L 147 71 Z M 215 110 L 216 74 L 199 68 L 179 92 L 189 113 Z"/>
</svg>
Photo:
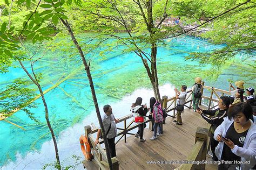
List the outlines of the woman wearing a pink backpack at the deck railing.
<svg viewBox="0 0 256 170">
<path fill-rule="evenodd" d="M 151 97 L 153 98 L 153 97 Z M 155 99 L 156 100 L 156 99 Z M 156 101 L 156 103 L 154 103 L 153 108 L 151 109 L 152 112 L 150 112 L 150 114 L 152 114 L 152 117 L 154 119 L 154 135 L 152 138 L 150 138 L 150 140 L 155 140 L 157 139 L 157 136 L 161 136 L 161 122 L 163 121 L 164 117 L 163 117 L 163 111 L 161 108 L 161 103 Z M 157 133 L 158 131 L 158 133 Z"/>
</svg>

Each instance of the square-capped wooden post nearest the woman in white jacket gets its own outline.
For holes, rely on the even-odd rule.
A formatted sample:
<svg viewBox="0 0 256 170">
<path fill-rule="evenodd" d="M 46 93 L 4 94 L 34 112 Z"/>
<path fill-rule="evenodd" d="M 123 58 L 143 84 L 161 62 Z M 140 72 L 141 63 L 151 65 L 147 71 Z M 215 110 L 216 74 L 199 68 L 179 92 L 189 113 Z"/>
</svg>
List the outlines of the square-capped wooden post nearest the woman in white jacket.
<svg viewBox="0 0 256 170">
<path fill-rule="evenodd" d="M 199 160 L 206 160 L 208 129 L 197 127 L 195 144 L 198 140 L 204 141 L 204 148 Z M 199 164 L 199 169 L 205 169 L 205 164 Z"/>
</svg>

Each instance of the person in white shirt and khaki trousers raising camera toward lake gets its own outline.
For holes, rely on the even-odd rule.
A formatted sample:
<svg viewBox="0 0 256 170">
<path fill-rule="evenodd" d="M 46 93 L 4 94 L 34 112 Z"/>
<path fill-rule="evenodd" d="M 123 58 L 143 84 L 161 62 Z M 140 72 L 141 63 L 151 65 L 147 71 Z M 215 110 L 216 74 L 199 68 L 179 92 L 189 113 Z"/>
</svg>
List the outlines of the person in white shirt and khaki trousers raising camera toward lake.
<svg viewBox="0 0 256 170">
<path fill-rule="evenodd" d="M 182 85 L 180 91 L 177 90 L 177 88 L 174 89 L 175 91 L 175 95 L 176 95 L 176 99 L 178 99 L 177 102 L 177 106 L 176 106 L 176 110 L 177 110 L 177 120 L 174 120 L 173 122 L 176 122 L 177 125 L 182 125 L 182 118 L 181 118 L 181 113 L 184 110 L 184 105 L 185 105 L 185 100 L 186 100 L 186 89 L 187 86 L 186 85 Z"/>
</svg>

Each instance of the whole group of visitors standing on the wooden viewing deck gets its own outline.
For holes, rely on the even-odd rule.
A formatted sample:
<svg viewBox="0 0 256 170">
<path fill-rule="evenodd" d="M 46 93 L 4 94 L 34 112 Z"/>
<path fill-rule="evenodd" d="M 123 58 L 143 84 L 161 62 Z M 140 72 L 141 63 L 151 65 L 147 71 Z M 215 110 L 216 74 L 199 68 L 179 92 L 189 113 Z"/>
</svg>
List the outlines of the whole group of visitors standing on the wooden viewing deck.
<svg viewBox="0 0 256 170">
<path fill-rule="evenodd" d="M 230 83 L 231 96 L 221 96 L 219 98 L 218 109 L 203 110 L 198 107 L 201 99 L 201 90 L 203 84 L 200 77 L 195 79 L 192 87 L 193 110 L 200 114 L 203 119 L 211 126 L 211 151 L 212 159 L 223 160 L 224 164 L 219 165 L 219 169 L 250 169 L 256 168 L 256 111 L 255 95 L 252 87 L 244 88 L 244 81 L 235 82 L 236 88 Z M 177 98 L 177 119 L 174 120 L 177 125 L 182 125 L 181 113 L 184 111 L 186 100 L 185 85 L 181 86 L 180 91 L 174 89 Z M 246 90 L 247 97 L 244 97 Z M 131 105 L 130 111 L 134 116 L 134 122 L 138 124 L 138 131 L 134 137 L 139 138 L 139 142 L 145 142 L 143 138 L 146 128 L 145 116 L 150 113 L 149 118 L 153 123 L 153 136 L 151 140 L 156 140 L 163 134 L 163 109 L 161 103 L 156 98 L 150 98 L 150 107 L 142 104 L 142 97 L 138 97 Z M 112 114 L 110 105 L 104 106 L 105 115 L 103 116 L 103 125 L 110 147 L 111 157 L 116 157 L 116 146 L 114 140 L 117 136 L 116 119 Z M 98 130 L 95 144 L 99 143 L 100 129 Z"/>
</svg>

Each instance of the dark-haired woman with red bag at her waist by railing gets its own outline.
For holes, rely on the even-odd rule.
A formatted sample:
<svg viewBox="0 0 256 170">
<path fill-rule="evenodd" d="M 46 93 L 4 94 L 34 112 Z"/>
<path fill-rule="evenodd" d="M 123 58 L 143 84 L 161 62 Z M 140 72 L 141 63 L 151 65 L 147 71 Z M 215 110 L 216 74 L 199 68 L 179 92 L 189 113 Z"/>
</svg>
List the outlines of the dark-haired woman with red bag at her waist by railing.
<svg viewBox="0 0 256 170">
<path fill-rule="evenodd" d="M 142 97 L 138 97 L 136 99 L 136 102 L 132 104 L 131 112 L 132 112 L 133 116 L 139 116 L 139 117 L 146 116 L 147 105 L 146 104 L 142 105 Z M 144 141 L 146 141 L 146 139 L 143 138 L 143 133 L 144 133 L 144 126 L 146 126 L 146 124 L 144 122 L 137 123 L 137 124 L 138 124 L 139 130 L 135 134 L 135 137 L 140 137 L 139 141 L 144 142 Z"/>
</svg>

